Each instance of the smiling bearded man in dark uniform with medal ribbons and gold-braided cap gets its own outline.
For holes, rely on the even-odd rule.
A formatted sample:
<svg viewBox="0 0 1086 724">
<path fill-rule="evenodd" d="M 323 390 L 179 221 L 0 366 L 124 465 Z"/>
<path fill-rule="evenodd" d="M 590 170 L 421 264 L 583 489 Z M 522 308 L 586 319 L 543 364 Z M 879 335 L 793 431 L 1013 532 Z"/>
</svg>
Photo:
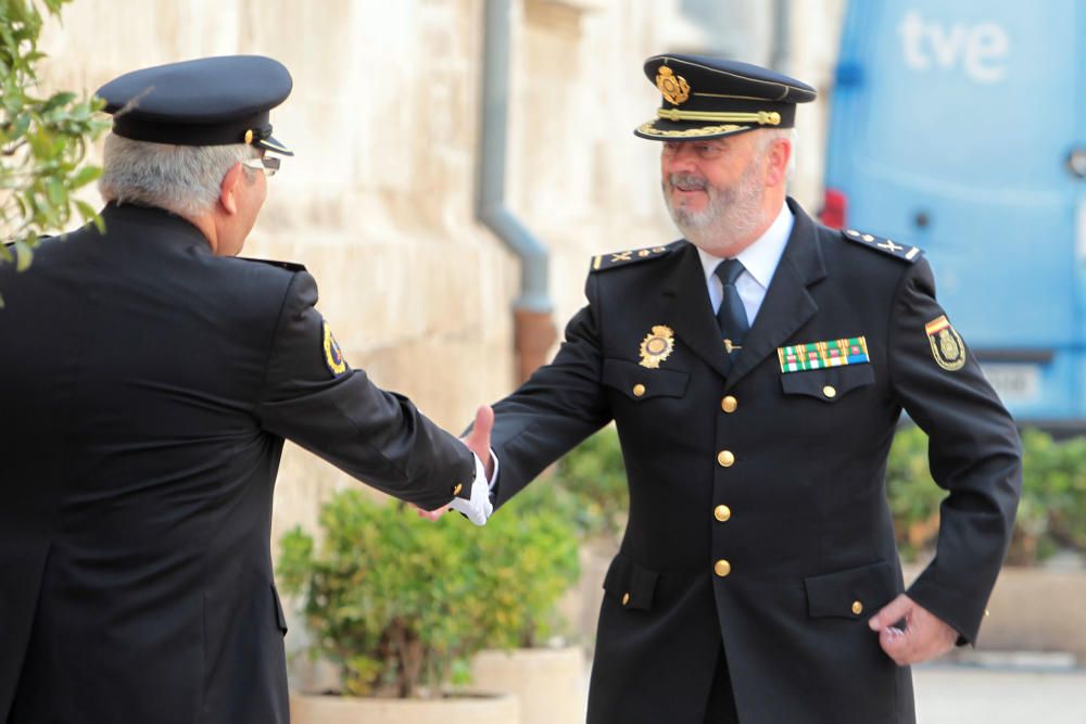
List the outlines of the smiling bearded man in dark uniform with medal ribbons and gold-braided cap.
<svg viewBox="0 0 1086 724">
<path fill-rule="evenodd" d="M 1014 424 L 920 250 L 786 199 L 812 88 L 692 55 L 645 73 L 664 100 L 635 132 L 685 239 L 593 261 L 557 357 L 494 408 L 496 505 L 616 422 L 630 516 L 592 724 L 913 722 L 908 664 L 975 640 L 1006 552 Z M 948 491 L 908 592 L 884 491 L 902 409 Z"/>
</svg>

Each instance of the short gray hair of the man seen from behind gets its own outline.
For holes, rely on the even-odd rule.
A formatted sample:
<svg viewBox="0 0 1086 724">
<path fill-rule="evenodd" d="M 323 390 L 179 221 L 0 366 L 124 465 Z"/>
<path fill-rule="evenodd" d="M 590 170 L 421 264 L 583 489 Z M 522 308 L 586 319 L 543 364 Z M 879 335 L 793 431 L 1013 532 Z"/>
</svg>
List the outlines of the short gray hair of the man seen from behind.
<svg viewBox="0 0 1086 724">
<path fill-rule="evenodd" d="M 258 155 L 247 143 L 173 145 L 110 134 L 98 190 L 108 202 L 157 206 L 197 218 L 215 207 L 226 172 Z M 249 180 L 254 178 L 255 172 L 244 172 Z"/>
</svg>

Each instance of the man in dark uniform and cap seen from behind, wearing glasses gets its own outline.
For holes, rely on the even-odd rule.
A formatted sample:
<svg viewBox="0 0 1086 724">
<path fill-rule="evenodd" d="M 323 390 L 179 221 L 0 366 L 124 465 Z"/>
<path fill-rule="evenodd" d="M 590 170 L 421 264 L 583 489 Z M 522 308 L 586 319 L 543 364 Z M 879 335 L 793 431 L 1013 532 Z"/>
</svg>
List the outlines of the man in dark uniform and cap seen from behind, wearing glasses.
<svg viewBox="0 0 1086 724">
<path fill-rule="evenodd" d="M 290 88 L 257 56 L 108 84 L 104 231 L 0 265 L 0 721 L 287 722 L 283 439 L 482 520 L 481 463 L 348 366 L 304 267 L 233 256 Z"/>
</svg>

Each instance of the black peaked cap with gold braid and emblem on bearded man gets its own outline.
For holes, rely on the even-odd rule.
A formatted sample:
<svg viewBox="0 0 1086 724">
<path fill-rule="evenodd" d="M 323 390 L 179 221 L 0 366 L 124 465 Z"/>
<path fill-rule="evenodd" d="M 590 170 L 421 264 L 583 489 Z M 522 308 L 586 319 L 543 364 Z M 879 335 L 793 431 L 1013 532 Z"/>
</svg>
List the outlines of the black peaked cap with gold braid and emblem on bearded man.
<svg viewBox="0 0 1086 724">
<path fill-rule="evenodd" d="M 654 55 L 645 61 L 645 75 L 664 100 L 656 118 L 633 132 L 656 141 L 792 128 L 796 103 L 817 94 L 807 84 L 768 68 L 705 55 Z"/>
</svg>

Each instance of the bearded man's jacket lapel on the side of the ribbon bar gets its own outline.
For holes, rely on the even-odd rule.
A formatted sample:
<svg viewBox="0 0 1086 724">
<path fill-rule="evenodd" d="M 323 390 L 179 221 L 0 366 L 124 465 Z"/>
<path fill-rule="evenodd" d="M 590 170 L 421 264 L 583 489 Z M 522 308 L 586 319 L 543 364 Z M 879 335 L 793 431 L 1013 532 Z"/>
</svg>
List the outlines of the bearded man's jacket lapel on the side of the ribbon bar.
<svg viewBox="0 0 1086 724">
<path fill-rule="evenodd" d="M 788 199 L 788 208 L 795 216 L 792 236 L 788 237 L 781 263 L 769 283 L 754 326 L 743 341 L 743 350 L 733 360 L 728 373 L 728 388 L 735 386 L 758 363 L 774 354 L 779 346 L 818 312 L 818 304 L 807 291 L 808 287 L 826 276 L 815 223 L 792 199 Z M 702 287 L 704 290 L 704 282 Z M 703 294 L 707 293 L 703 291 Z"/>
</svg>

